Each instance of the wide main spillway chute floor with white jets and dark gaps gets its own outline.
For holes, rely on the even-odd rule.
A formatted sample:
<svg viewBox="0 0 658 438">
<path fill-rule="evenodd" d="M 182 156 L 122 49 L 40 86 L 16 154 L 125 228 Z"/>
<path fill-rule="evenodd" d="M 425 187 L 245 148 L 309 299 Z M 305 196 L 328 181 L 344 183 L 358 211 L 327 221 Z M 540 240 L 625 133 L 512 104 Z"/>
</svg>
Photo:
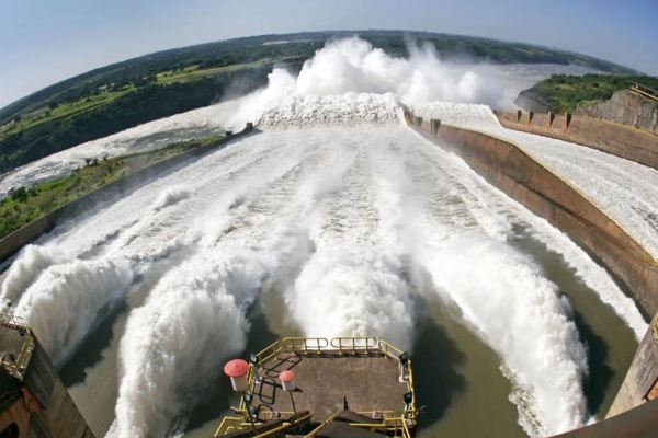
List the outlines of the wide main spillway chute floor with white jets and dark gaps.
<svg viewBox="0 0 658 438">
<path fill-rule="evenodd" d="M 646 327 L 633 302 L 389 110 L 354 126 L 270 124 L 21 253 L 2 298 L 99 436 L 194 436 L 214 418 L 195 403 L 225 405 L 208 388 L 223 360 L 277 331 L 381 336 L 427 356 L 428 436 L 468 436 L 474 410 L 511 436 L 600 414 Z M 592 343 L 611 349 L 602 365 Z M 590 388 L 603 367 L 614 378 Z"/>
</svg>

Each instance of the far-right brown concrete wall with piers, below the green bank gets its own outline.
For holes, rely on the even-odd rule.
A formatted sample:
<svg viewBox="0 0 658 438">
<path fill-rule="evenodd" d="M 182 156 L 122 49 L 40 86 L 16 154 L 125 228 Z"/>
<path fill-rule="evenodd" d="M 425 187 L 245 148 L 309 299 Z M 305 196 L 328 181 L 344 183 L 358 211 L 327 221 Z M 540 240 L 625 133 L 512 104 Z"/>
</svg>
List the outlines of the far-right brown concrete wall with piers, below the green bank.
<svg viewBox="0 0 658 438">
<path fill-rule="evenodd" d="M 582 115 L 496 111 L 502 126 L 587 146 L 658 169 L 658 136 Z"/>
</svg>

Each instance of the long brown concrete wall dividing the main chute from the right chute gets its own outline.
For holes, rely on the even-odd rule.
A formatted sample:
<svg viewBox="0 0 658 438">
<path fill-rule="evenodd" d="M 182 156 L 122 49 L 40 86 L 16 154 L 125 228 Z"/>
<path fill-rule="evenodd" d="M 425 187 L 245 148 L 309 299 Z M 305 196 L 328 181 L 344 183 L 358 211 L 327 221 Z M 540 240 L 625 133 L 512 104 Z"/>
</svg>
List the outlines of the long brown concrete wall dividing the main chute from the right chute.
<svg viewBox="0 0 658 438">
<path fill-rule="evenodd" d="M 407 123 L 461 155 L 491 184 L 565 231 L 620 280 L 647 319 L 658 310 L 658 267 L 621 227 L 515 145 L 475 130 L 406 115 Z"/>
</svg>

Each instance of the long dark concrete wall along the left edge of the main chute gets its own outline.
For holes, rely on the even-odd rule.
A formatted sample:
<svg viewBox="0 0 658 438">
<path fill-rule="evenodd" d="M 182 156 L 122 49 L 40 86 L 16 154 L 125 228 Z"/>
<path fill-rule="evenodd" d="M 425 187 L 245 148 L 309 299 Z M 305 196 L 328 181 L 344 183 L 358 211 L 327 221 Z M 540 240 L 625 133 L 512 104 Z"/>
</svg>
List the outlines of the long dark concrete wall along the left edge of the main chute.
<svg viewBox="0 0 658 438">
<path fill-rule="evenodd" d="M 204 155 L 215 150 L 219 146 L 225 146 L 231 140 L 248 135 L 252 130 L 253 126 L 248 124 L 245 129 L 236 135 L 225 137 L 204 147 L 190 149 L 180 155 L 154 163 L 147 168 L 138 170 L 137 172 L 99 187 L 95 191 L 79 197 L 78 199 L 71 200 L 70 203 L 38 217 L 26 226 L 0 239 L 0 262 L 16 253 L 27 243 L 36 240 L 43 233 L 52 230 L 60 219 L 76 216 L 84 210 L 88 210 L 92 206 L 98 205 L 98 203 L 111 198 L 112 195 L 126 192 L 131 187 L 134 187 L 140 183 L 143 184 L 158 176 L 158 174 L 161 172 L 175 166 L 177 164 L 183 163 L 184 161 L 194 157 Z"/>
</svg>

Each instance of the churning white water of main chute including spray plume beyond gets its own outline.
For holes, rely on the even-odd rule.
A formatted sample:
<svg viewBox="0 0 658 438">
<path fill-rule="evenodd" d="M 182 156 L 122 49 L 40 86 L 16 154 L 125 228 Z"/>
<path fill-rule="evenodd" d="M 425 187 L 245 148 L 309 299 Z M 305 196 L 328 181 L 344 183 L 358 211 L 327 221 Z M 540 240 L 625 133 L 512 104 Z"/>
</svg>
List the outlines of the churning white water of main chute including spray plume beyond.
<svg viewBox="0 0 658 438">
<path fill-rule="evenodd" d="M 64 362 L 126 293 L 145 293 L 120 343 L 110 437 L 180 431 L 204 382 L 245 347 L 248 310 L 265 289 L 308 336 L 382 336 L 406 349 L 417 306 L 439 298 L 499 356 L 529 435 L 585 424 L 586 347 L 557 286 L 510 244 L 514 230 L 563 254 L 640 334 L 633 302 L 564 234 L 402 125 L 400 100 L 428 105 L 410 96 L 444 78 L 429 55 L 404 64 L 359 41 L 329 48 L 299 78 L 275 70 L 271 87 L 230 104 L 262 132 L 25 247 L 2 284 L 4 304 Z M 327 65 L 345 78 L 339 90 L 325 90 Z M 377 78 L 382 66 L 402 85 Z M 400 79 L 409 74 L 418 78 Z M 304 78 L 326 87 L 309 90 Z M 481 94 L 472 74 L 446 78 L 462 97 Z M 429 105 L 492 123 L 487 107 Z"/>
</svg>

